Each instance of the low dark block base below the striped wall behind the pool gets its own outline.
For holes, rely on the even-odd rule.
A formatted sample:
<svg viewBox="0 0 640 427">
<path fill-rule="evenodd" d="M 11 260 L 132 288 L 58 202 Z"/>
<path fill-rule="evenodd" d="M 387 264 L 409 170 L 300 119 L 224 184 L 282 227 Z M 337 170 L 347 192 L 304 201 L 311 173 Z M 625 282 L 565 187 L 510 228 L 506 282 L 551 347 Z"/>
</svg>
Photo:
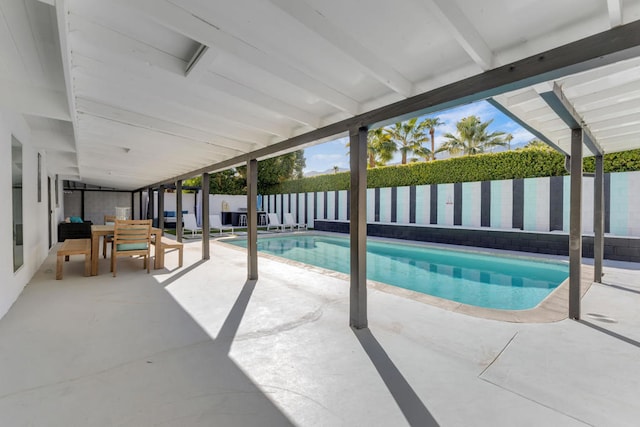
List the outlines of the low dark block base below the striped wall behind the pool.
<svg viewBox="0 0 640 427">
<path fill-rule="evenodd" d="M 346 221 L 315 220 L 314 228 L 319 231 L 349 233 L 349 223 Z M 367 224 L 367 235 L 549 255 L 569 255 L 569 235 L 562 232 L 535 233 L 519 230 L 373 223 Z M 582 255 L 593 258 L 593 236 L 582 237 Z M 640 239 L 605 236 L 604 258 L 640 262 Z"/>
</svg>

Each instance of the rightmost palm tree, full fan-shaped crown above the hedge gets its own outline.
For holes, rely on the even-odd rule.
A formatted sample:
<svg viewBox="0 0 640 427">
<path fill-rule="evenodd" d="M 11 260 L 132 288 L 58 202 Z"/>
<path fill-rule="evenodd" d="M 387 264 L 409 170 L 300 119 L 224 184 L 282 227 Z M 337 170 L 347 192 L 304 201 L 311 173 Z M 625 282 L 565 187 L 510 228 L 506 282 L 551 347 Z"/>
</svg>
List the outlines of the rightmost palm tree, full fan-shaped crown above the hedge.
<svg viewBox="0 0 640 427">
<path fill-rule="evenodd" d="M 452 155 L 474 155 L 484 153 L 488 148 L 504 146 L 504 132 L 487 133 L 487 127 L 493 122 L 483 122 L 477 116 L 469 116 L 456 123 L 457 135 L 446 133 L 447 139 L 442 149 Z"/>
</svg>

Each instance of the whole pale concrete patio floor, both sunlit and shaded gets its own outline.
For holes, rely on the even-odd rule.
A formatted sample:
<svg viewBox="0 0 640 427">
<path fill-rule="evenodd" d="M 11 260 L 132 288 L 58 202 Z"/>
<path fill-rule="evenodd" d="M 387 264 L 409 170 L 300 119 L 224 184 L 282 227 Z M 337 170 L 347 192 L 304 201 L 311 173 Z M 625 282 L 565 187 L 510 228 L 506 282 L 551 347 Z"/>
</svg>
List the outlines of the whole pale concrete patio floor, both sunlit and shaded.
<svg viewBox="0 0 640 427">
<path fill-rule="evenodd" d="M 0 425 L 572 426 L 640 419 L 640 265 L 605 268 L 583 321 L 507 323 L 369 291 L 217 242 L 147 275 L 55 252 L 0 320 Z M 54 248 L 55 249 L 55 248 Z M 619 268 L 625 267 L 626 269 Z"/>
</svg>

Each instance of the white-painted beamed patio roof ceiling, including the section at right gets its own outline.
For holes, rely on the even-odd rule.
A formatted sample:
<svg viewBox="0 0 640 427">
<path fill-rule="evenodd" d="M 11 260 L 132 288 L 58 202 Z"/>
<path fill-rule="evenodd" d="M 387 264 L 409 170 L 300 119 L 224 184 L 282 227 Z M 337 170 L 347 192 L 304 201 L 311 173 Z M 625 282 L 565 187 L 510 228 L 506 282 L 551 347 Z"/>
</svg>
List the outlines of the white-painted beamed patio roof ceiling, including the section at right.
<svg viewBox="0 0 640 427">
<path fill-rule="evenodd" d="M 0 109 L 63 178 L 135 189 L 638 19 L 640 0 L 0 0 Z M 555 82 L 606 151 L 640 146 L 639 70 Z M 495 98 L 564 149 L 553 88 Z"/>
</svg>

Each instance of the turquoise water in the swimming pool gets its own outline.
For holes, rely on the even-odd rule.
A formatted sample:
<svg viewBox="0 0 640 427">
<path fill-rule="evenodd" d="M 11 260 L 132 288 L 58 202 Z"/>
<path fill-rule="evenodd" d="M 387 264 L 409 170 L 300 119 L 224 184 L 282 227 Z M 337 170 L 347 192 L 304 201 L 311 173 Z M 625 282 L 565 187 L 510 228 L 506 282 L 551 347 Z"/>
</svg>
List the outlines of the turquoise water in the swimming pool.
<svg viewBox="0 0 640 427">
<path fill-rule="evenodd" d="M 246 247 L 246 240 L 228 241 Z M 349 239 L 292 235 L 258 251 L 349 273 Z M 566 264 L 387 242 L 367 242 L 367 278 L 440 298 L 503 310 L 540 303 L 569 276 Z"/>
</svg>

